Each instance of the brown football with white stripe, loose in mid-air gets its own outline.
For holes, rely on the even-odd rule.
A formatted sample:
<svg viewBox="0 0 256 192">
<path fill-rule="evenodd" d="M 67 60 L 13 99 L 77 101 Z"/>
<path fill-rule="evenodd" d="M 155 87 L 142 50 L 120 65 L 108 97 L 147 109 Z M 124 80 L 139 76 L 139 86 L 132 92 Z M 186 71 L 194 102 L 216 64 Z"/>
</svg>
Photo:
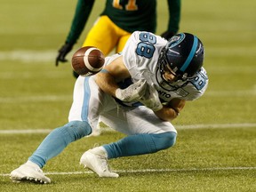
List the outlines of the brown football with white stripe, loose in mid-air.
<svg viewBox="0 0 256 192">
<path fill-rule="evenodd" d="M 71 66 L 80 76 L 92 76 L 103 68 L 104 54 L 96 47 L 84 46 L 72 56 Z"/>
</svg>

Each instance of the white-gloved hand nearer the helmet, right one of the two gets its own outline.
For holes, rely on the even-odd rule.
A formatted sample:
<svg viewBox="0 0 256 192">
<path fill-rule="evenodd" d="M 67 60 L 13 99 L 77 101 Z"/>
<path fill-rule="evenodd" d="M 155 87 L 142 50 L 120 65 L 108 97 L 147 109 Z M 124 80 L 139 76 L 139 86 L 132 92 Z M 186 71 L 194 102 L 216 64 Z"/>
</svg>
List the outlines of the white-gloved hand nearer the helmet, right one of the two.
<svg viewBox="0 0 256 192">
<path fill-rule="evenodd" d="M 154 84 L 148 85 L 146 93 L 140 98 L 139 101 L 147 108 L 151 108 L 153 111 L 158 111 L 163 108 Z"/>
</svg>

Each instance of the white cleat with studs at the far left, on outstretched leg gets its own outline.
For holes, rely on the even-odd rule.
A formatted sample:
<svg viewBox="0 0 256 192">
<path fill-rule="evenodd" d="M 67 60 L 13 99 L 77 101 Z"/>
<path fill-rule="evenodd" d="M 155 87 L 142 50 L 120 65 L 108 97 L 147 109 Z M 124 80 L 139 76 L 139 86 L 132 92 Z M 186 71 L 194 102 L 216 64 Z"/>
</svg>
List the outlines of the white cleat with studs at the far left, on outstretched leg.
<svg viewBox="0 0 256 192">
<path fill-rule="evenodd" d="M 40 167 L 30 161 L 13 170 L 10 174 L 10 179 L 12 182 L 27 181 L 39 184 L 51 183 L 51 180 L 44 175 Z"/>
</svg>

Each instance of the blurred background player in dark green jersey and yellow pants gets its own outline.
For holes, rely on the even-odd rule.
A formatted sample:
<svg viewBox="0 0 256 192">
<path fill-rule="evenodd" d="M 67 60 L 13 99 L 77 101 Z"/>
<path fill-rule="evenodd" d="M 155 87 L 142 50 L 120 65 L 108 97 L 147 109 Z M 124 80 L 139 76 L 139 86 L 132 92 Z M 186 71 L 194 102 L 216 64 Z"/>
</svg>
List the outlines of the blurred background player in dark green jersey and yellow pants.
<svg viewBox="0 0 256 192">
<path fill-rule="evenodd" d="M 179 30 L 180 0 L 167 0 L 169 23 L 162 36 L 169 39 Z M 83 46 L 98 47 L 105 55 L 121 52 L 133 31 L 156 32 L 156 0 L 107 0 L 103 12 L 84 40 Z M 56 66 L 67 62 L 66 55 L 76 44 L 92 11 L 94 0 L 78 0 L 68 37 L 59 50 Z M 78 76 L 74 72 L 74 76 Z"/>
</svg>

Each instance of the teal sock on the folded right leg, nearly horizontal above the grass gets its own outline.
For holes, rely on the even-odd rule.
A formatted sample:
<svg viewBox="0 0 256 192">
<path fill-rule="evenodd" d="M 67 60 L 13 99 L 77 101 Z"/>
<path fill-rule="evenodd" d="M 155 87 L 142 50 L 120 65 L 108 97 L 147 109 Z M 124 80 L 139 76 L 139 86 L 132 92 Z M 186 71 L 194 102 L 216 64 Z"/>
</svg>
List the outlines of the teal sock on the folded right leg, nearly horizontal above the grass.
<svg viewBox="0 0 256 192">
<path fill-rule="evenodd" d="M 171 148 L 176 141 L 176 132 L 158 134 L 137 134 L 125 137 L 117 142 L 104 145 L 108 158 L 121 156 L 139 156 L 156 153 L 165 148 Z"/>
</svg>

